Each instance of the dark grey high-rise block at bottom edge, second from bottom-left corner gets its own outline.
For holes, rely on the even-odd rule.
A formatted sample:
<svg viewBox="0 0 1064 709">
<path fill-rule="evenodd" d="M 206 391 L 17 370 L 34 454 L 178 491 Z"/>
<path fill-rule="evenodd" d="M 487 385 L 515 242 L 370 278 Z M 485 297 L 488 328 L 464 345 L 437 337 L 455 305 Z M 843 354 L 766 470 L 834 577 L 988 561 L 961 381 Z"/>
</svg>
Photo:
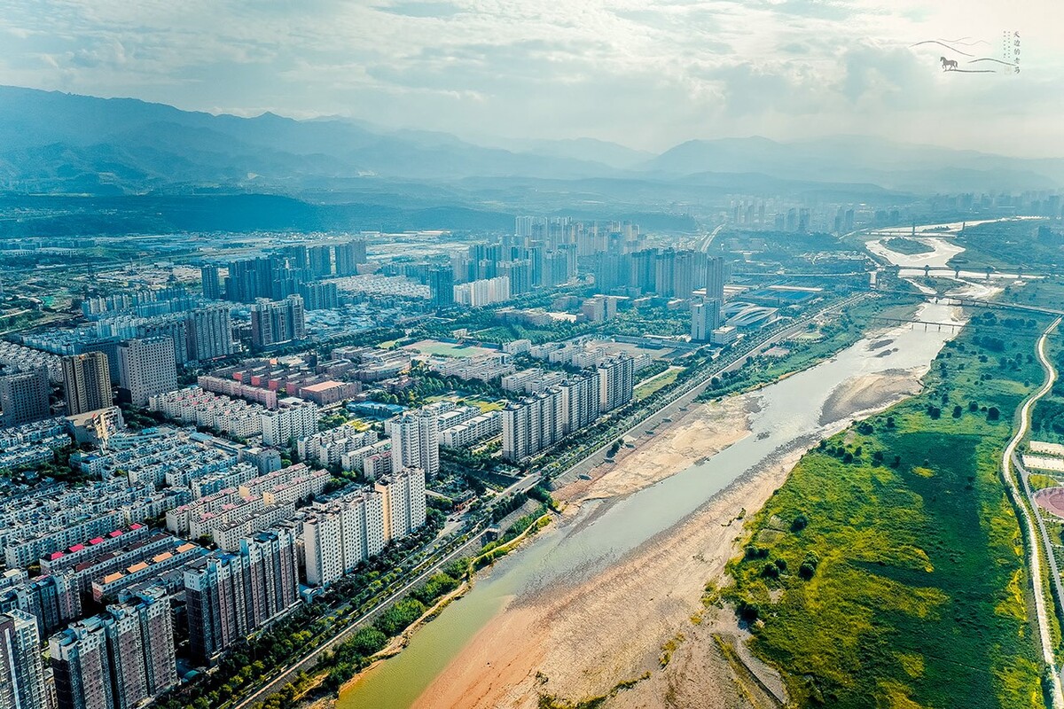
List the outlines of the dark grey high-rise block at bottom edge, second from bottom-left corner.
<svg viewBox="0 0 1064 709">
<path fill-rule="evenodd" d="M 48 642 L 59 709 L 134 709 L 177 685 L 166 592 L 149 589 Z"/>
</svg>

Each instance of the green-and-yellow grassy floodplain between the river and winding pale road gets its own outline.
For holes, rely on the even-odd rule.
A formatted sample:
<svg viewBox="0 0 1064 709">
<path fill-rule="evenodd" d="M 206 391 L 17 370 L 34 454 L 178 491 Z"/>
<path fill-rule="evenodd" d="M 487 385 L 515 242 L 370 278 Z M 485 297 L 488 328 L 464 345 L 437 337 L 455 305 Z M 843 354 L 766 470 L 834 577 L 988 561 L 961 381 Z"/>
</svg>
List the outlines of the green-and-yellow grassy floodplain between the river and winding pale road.
<svg viewBox="0 0 1064 709">
<path fill-rule="evenodd" d="M 924 392 L 824 441 L 747 523 L 727 594 L 797 706 L 1044 706 L 999 474 L 1048 320 L 979 316 Z"/>
</svg>

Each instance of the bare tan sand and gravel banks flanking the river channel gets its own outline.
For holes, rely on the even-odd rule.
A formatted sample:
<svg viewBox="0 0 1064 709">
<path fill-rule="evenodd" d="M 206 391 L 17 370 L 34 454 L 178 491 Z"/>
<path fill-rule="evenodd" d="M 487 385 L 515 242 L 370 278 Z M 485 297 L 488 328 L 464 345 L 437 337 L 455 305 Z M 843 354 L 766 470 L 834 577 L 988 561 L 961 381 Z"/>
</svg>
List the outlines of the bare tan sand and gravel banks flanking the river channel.
<svg viewBox="0 0 1064 709">
<path fill-rule="evenodd" d="M 920 374 L 895 371 L 854 377 L 833 394 L 828 413 L 831 420 L 843 420 L 842 428 L 847 417 L 883 408 L 917 390 Z M 693 405 L 656 438 L 605 467 L 604 474 L 595 471 L 596 479 L 567 486 L 559 496 L 576 507 L 628 494 L 684 470 L 748 435 L 747 415 L 757 406 L 757 392 Z M 714 634 L 737 634 L 731 619 L 708 618 L 698 626 L 691 619 L 701 610 L 706 581 L 719 579 L 736 553 L 741 516 L 760 509 L 815 442 L 811 438 L 778 451 L 677 527 L 587 581 L 511 605 L 481 629 L 414 706 L 531 709 L 541 694 L 579 700 L 648 672 L 648 679 L 605 706 L 751 706 L 713 640 Z M 564 529 L 552 534 L 560 531 Z M 662 670 L 662 648 L 678 634 L 683 641 Z"/>
</svg>

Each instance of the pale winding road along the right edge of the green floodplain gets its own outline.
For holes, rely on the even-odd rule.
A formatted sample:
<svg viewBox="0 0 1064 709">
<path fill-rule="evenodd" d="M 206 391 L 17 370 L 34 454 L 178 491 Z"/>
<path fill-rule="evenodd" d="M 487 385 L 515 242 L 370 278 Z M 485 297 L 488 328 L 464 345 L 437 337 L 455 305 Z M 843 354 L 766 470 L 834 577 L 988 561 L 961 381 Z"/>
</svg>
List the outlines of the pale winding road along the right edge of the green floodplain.
<svg viewBox="0 0 1064 709">
<path fill-rule="evenodd" d="M 1031 585 L 1033 586 L 1034 591 L 1034 610 L 1037 614 L 1038 635 L 1042 639 L 1042 659 L 1045 661 L 1046 665 L 1052 668 L 1053 709 L 1064 709 L 1064 692 L 1061 690 L 1061 678 L 1057 669 L 1057 658 L 1053 656 L 1052 636 L 1049 632 L 1049 615 L 1046 612 L 1046 607 L 1049 604 L 1046 603 L 1045 589 L 1042 585 L 1042 547 L 1038 541 L 1038 536 L 1034 530 L 1034 522 L 1031 519 L 1032 514 L 1029 508 L 1030 501 L 1021 496 L 1019 488 L 1016 485 L 1016 476 L 1013 472 L 1012 459 L 1016 452 L 1016 446 L 1027 435 L 1027 429 L 1031 423 L 1031 408 L 1040 399 L 1049 393 L 1049 391 L 1053 388 L 1053 384 L 1057 382 L 1057 370 L 1046 356 L 1046 339 L 1049 337 L 1049 334 L 1057 328 L 1060 322 L 1061 318 L 1054 320 L 1053 323 L 1049 325 L 1044 333 L 1042 333 L 1042 337 L 1038 338 L 1036 350 L 1038 353 L 1038 360 L 1042 362 L 1042 368 L 1046 372 L 1046 381 L 1043 383 L 1041 389 L 1028 396 L 1027 400 L 1020 405 L 1018 417 L 1019 425 L 1016 427 L 1015 435 L 1012 437 L 1012 440 L 1009 441 L 1009 445 L 1005 446 L 1004 453 L 1001 455 L 1001 471 L 1004 475 L 1005 484 L 1009 486 L 1009 491 L 1012 495 L 1013 502 L 1020 510 L 1024 518 L 1024 534 L 1027 537 L 1028 550 L 1030 550 L 1028 561 L 1031 567 Z M 1046 548 L 1046 554 L 1052 554 L 1052 550 Z"/>
</svg>

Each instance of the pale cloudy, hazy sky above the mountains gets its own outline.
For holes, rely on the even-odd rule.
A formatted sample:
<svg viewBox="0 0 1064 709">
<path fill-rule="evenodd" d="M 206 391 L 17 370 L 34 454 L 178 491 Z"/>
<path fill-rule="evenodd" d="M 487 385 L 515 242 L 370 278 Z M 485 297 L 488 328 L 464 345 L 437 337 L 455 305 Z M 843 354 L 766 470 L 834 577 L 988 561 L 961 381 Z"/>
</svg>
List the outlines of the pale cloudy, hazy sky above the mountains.
<svg viewBox="0 0 1064 709">
<path fill-rule="evenodd" d="M 1018 75 L 1001 55 L 1018 31 Z M 1064 0 L 0 0 L 0 83 L 483 136 L 1064 155 Z M 954 45 L 966 57 L 926 39 Z"/>
</svg>

